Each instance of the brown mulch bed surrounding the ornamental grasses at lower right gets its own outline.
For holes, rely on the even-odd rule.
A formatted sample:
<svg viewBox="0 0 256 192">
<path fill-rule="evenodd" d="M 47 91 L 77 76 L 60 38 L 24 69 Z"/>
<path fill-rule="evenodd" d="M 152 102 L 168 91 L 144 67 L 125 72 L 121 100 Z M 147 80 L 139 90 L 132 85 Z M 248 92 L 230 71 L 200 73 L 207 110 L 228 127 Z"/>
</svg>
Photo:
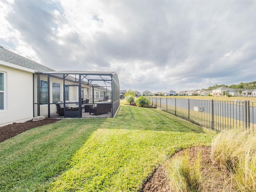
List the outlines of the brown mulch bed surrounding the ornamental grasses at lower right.
<svg viewBox="0 0 256 192">
<path fill-rule="evenodd" d="M 194 160 L 198 157 L 198 152 L 202 150 L 202 162 L 201 162 L 201 172 L 202 172 L 202 188 L 199 191 L 204 192 L 234 192 L 234 188 L 229 186 L 227 182 L 229 178 L 228 172 L 220 168 L 218 165 L 212 162 L 210 158 L 211 148 L 210 147 L 193 147 L 188 149 L 190 156 L 190 163 L 192 164 Z M 177 152 L 172 158 L 177 158 L 178 156 L 184 156 L 186 150 Z M 166 178 L 165 168 L 160 166 L 154 174 L 148 179 L 144 184 L 140 192 L 170 192 L 170 186 L 168 184 L 168 178 Z"/>
</svg>

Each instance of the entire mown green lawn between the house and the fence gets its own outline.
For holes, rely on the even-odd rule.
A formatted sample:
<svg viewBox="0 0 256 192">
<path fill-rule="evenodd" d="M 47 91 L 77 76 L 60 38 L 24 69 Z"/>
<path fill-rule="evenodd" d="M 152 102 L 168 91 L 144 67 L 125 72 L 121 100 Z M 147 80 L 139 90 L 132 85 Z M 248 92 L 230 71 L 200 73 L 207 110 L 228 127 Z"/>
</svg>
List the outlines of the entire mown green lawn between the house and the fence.
<svg viewBox="0 0 256 192">
<path fill-rule="evenodd" d="M 0 143 L 0 191 L 138 191 L 175 152 L 216 134 L 161 110 L 61 120 Z"/>
</svg>

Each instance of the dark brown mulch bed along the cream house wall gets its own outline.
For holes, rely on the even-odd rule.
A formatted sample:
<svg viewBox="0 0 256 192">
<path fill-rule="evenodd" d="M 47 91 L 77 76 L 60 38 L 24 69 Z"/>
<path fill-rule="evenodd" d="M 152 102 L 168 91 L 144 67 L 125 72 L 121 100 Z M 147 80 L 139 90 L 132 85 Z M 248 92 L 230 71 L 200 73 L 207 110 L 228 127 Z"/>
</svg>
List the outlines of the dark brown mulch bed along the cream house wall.
<svg viewBox="0 0 256 192">
<path fill-rule="evenodd" d="M 42 119 L 39 121 L 26 121 L 24 123 L 13 123 L 0 127 L 0 142 L 12 138 L 26 130 L 39 127 L 45 124 L 50 124 L 59 121 L 60 119 Z"/>
</svg>

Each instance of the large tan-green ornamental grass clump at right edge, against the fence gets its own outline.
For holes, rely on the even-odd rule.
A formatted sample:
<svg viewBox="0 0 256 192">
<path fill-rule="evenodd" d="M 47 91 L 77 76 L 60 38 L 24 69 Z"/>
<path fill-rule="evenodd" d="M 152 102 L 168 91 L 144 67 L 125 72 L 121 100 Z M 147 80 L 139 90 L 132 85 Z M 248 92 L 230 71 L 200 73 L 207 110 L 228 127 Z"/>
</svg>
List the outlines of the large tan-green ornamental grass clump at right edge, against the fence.
<svg viewBox="0 0 256 192">
<path fill-rule="evenodd" d="M 239 192 L 256 191 L 256 134 L 222 131 L 212 142 L 212 159 L 228 170 Z"/>
</svg>

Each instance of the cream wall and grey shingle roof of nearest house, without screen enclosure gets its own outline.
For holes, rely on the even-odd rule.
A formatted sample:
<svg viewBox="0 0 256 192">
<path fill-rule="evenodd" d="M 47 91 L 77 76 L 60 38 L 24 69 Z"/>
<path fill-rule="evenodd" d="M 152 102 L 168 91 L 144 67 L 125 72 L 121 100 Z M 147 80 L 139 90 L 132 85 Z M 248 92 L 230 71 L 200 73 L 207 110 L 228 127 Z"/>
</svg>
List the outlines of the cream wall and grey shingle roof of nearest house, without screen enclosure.
<svg viewBox="0 0 256 192">
<path fill-rule="evenodd" d="M 33 118 L 33 74 L 50 71 L 0 46 L 0 126 Z"/>
</svg>

